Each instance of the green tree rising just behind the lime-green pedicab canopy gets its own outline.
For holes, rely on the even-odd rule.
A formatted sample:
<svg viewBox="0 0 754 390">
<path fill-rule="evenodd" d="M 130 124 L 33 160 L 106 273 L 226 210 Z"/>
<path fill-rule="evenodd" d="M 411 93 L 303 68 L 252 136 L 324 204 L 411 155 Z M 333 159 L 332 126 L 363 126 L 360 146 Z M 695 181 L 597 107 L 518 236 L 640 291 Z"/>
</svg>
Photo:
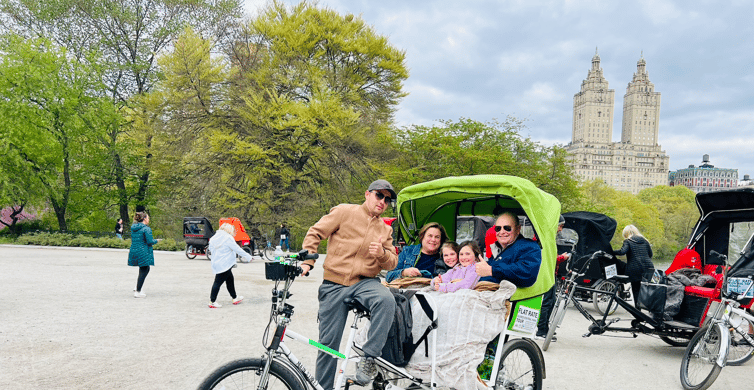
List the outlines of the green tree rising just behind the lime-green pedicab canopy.
<svg viewBox="0 0 754 390">
<path fill-rule="evenodd" d="M 503 174 L 528 179 L 558 199 L 578 196 L 565 151 L 522 137 L 520 120 L 440 123 L 396 130 L 396 153 L 385 166 L 391 183 L 405 187 L 446 176 Z"/>
</svg>

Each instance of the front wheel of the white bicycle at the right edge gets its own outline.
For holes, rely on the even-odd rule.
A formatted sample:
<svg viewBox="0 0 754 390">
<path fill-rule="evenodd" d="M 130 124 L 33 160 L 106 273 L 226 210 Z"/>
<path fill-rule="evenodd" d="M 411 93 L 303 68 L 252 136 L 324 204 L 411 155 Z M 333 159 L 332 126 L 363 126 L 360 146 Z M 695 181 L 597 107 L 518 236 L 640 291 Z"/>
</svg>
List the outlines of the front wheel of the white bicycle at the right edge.
<svg viewBox="0 0 754 390">
<path fill-rule="evenodd" d="M 720 353 L 720 327 L 712 324 L 691 338 L 681 360 L 681 385 L 686 390 L 705 390 L 715 382 L 722 367 L 716 361 Z"/>
</svg>

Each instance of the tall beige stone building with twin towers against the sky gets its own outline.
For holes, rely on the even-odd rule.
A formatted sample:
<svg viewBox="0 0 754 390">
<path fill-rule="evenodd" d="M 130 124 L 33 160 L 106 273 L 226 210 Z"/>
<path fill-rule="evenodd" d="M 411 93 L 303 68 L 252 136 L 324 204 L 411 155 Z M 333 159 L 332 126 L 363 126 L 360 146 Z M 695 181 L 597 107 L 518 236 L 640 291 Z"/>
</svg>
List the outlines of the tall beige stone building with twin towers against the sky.
<svg viewBox="0 0 754 390">
<path fill-rule="evenodd" d="M 669 157 L 659 145 L 660 93 L 649 81 L 642 56 L 623 95 L 620 142 L 612 141 L 615 90 L 600 68 L 599 54 L 573 96 L 573 132 L 566 150 L 581 180 L 601 179 L 633 194 L 668 184 Z"/>
</svg>

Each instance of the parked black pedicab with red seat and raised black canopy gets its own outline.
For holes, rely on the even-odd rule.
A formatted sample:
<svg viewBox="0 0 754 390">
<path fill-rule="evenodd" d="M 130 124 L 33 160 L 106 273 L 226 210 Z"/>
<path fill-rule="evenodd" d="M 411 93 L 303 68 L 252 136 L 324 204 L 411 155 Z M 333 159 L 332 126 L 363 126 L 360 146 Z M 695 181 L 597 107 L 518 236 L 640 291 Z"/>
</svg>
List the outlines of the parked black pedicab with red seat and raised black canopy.
<svg viewBox="0 0 754 390">
<path fill-rule="evenodd" d="M 642 282 L 642 294 L 640 294 L 642 296 L 638 299 L 645 306 L 645 312 L 627 303 L 617 292 L 613 292 L 610 294 L 607 305 L 617 304 L 633 317 L 633 319 L 630 319 L 630 326 L 628 327 L 613 325 L 621 319 L 608 319 L 607 314 L 601 318 L 593 317 L 583 309 L 577 300 L 572 298 L 573 291 L 578 289 L 592 293 L 604 293 L 603 291 L 579 286 L 568 287 L 561 293 L 561 295 L 564 295 L 565 304 L 561 305 L 563 307 L 556 307 L 552 313 L 550 330 L 560 324 L 565 309 L 567 309 L 569 302 L 572 302 L 574 307 L 591 322 L 589 333 L 585 336 L 599 335 L 605 332 L 627 332 L 634 337 L 638 334 L 659 336 L 660 339 L 673 346 L 688 345 L 694 334 L 704 326 L 710 309 L 716 309 L 720 304 L 725 265 L 722 261 L 723 257 L 719 254 L 738 259 L 741 256 L 742 248 L 746 248 L 746 243 L 750 241 L 754 232 L 754 189 L 742 188 L 699 193 L 696 195 L 696 204 L 700 218 L 692 230 L 686 248 L 676 255 L 666 273 L 670 274 L 684 268 L 695 268 L 700 271 L 700 275 L 710 276 L 698 278 L 699 280 L 710 280 L 710 285 L 683 287 L 680 307 L 674 310 L 672 315 L 670 315 L 670 311 L 664 310 L 667 309 L 666 298 L 672 295 L 668 293 L 668 290 L 674 288 L 663 282 L 653 280 Z M 598 257 L 609 257 L 609 254 L 598 251 L 591 257 L 591 260 L 594 261 Z M 580 274 L 583 274 L 583 270 L 571 267 L 568 271 L 569 279 L 567 283 L 569 286 L 573 286 L 574 280 Z M 615 279 L 619 283 L 627 280 L 622 275 L 616 276 Z M 662 275 L 660 275 L 660 279 L 662 279 Z M 646 292 L 650 291 L 654 291 L 654 294 L 645 295 Z M 568 294 L 570 294 L 570 297 L 567 296 Z M 742 307 L 750 308 L 751 302 Z M 754 332 L 754 324 L 744 322 L 742 326 L 748 334 L 751 335 Z M 550 335 L 545 340 L 546 344 L 549 337 Z"/>
</svg>

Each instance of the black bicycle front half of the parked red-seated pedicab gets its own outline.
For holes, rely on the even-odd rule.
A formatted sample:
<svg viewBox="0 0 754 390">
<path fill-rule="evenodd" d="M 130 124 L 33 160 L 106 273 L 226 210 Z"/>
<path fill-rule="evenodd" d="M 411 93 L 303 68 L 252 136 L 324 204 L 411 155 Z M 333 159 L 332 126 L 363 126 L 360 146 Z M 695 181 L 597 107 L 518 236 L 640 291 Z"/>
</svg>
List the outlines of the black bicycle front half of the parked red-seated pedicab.
<svg viewBox="0 0 754 390">
<path fill-rule="evenodd" d="M 544 343 L 542 344 L 542 349 L 547 351 L 547 348 L 549 348 L 550 342 L 555 335 L 555 331 L 563 322 L 563 318 L 565 317 L 569 303 L 573 303 L 573 306 L 581 313 L 581 315 L 592 322 L 592 324 L 589 325 L 589 332 L 584 334 L 583 337 L 601 335 L 607 331 L 627 332 L 631 333 L 633 337 L 637 337 L 638 334 L 643 333 L 658 336 L 662 341 L 668 343 L 669 345 L 685 347 L 688 344 L 688 341 L 691 340 L 691 338 L 694 336 L 694 333 L 696 333 L 696 331 L 699 329 L 699 327 L 680 321 L 666 321 L 661 317 L 649 316 L 642 313 L 634 305 L 626 302 L 626 300 L 621 297 L 621 292 L 624 288 L 621 286 L 625 286 L 625 284 L 628 283 L 628 276 L 613 275 L 606 281 L 612 283 L 614 285 L 613 288 L 604 288 L 601 286 L 597 286 L 600 288 L 589 288 L 576 285 L 576 279 L 580 276 L 583 276 L 584 270 L 588 267 L 589 263 L 594 261 L 599 256 L 610 255 L 602 251 L 596 251 L 589 257 L 588 261 L 583 262 L 583 266 L 580 270 L 574 271 L 569 267 L 569 277 L 568 279 L 566 279 L 563 287 L 558 292 L 555 309 L 550 315 L 550 329 L 547 332 Z M 603 284 L 602 286 L 604 285 L 605 284 Z M 604 314 L 600 319 L 594 318 L 589 312 L 586 311 L 586 309 L 584 309 L 581 303 L 576 298 L 574 298 L 574 292 L 576 290 L 581 290 L 598 295 L 594 298 L 594 304 L 604 305 L 602 310 Z M 608 320 L 607 317 L 612 312 L 614 312 L 618 306 L 625 309 L 634 317 L 634 319 L 631 320 L 631 327 L 623 328 L 612 326 L 614 323 L 620 321 L 620 318 L 613 318 Z"/>
</svg>

